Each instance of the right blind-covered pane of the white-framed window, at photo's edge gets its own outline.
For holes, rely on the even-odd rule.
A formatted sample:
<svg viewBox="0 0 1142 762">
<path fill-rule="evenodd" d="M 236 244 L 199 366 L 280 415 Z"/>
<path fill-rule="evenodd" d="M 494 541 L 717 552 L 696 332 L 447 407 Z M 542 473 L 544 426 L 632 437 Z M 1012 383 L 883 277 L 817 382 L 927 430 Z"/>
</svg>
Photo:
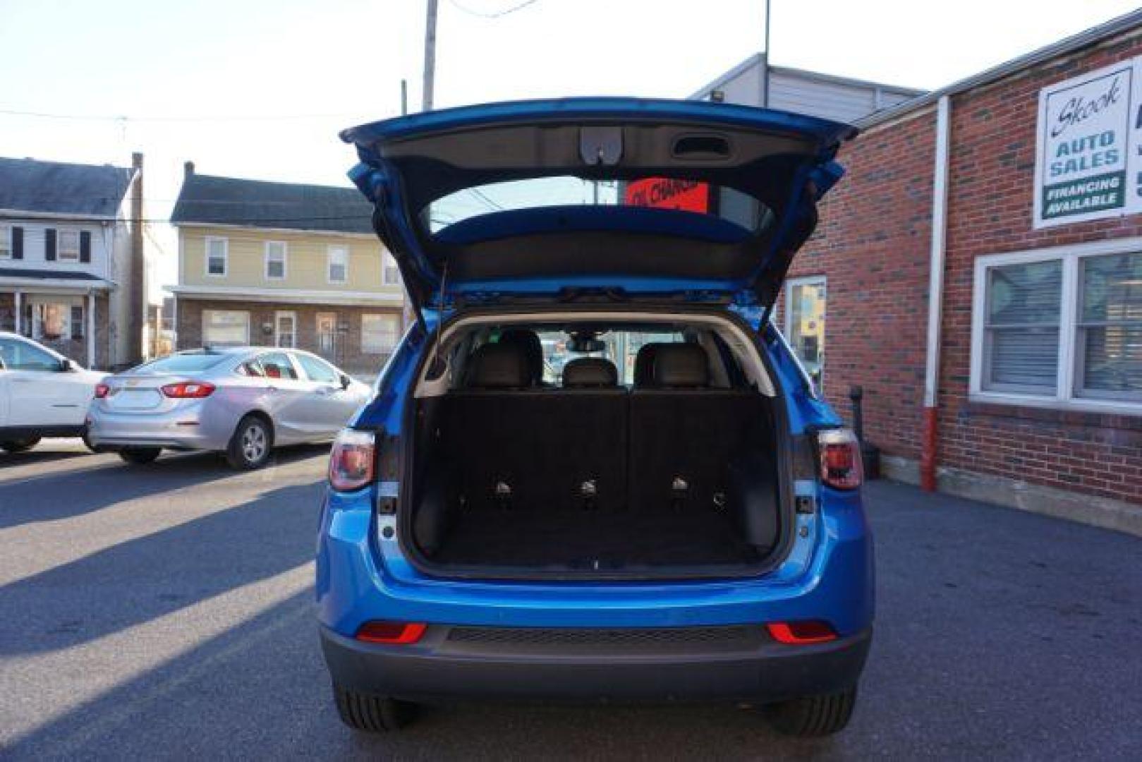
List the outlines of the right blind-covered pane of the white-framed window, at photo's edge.
<svg viewBox="0 0 1142 762">
<path fill-rule="evenodd" d="M 1075 391 L 1142 401 L 1142 254 L 1080 263 Z"/>
</svg>

